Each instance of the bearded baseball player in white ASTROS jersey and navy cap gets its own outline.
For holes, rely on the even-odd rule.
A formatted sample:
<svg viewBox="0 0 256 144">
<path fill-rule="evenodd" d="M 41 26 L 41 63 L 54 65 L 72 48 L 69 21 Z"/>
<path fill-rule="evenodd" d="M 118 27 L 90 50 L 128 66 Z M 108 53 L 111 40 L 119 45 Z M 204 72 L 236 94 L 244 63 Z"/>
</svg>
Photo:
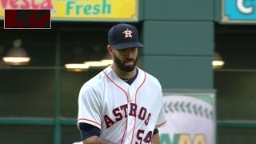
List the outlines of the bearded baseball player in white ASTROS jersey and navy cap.
<svg viewBox="0 0 256 144">
<path fill-rule="evenodd" d="M 108 33 L 113 64 L 86 82 L 78 97 L 78 128 L 83 143 L 160 143 L 166 125 L 162 87 L 136 66 L 136 27 L 119 23 Z"/>
</svg>

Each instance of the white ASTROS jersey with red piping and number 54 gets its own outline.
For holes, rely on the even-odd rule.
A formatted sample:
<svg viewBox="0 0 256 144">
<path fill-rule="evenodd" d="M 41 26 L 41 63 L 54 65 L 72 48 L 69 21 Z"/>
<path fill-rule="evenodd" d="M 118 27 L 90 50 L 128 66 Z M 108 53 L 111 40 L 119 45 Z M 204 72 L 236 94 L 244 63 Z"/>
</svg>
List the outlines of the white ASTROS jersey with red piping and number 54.
<svg viewBox="0 0 256 144">
<path fill-rule="evenodd" d="M 114 143 L 150 143 L 154 129 L 166 125 L 162 87 L 139 68 L 129 85 L 109 66 L 82 86 L 80 122 L 97 126 L 101 137 Z"/>
</svg>

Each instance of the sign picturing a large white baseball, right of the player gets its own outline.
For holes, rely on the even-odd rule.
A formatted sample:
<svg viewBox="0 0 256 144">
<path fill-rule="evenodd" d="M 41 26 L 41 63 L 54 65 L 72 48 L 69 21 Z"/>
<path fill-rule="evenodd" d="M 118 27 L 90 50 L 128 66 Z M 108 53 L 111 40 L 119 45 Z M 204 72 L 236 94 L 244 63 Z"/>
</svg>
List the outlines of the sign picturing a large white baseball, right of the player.
<svg viewBox="0 0 256 144">
<path fill-rule="evenodd" d="M 214 94 L 165 93 L 161 144 L 215 144 Z"/>
</svg>

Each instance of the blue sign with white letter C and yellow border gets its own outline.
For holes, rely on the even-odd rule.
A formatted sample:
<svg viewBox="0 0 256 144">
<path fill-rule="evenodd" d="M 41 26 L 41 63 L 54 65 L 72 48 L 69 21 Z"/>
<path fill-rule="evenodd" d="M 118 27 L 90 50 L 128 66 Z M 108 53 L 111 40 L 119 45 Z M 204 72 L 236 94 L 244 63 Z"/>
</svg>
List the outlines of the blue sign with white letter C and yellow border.
<svg viewBox="0 0 256 144">
<path fill-rule="evenodd" d="M 222 22 L 256 23 L 256 0 L 223 0 Z"/>
</svg>

